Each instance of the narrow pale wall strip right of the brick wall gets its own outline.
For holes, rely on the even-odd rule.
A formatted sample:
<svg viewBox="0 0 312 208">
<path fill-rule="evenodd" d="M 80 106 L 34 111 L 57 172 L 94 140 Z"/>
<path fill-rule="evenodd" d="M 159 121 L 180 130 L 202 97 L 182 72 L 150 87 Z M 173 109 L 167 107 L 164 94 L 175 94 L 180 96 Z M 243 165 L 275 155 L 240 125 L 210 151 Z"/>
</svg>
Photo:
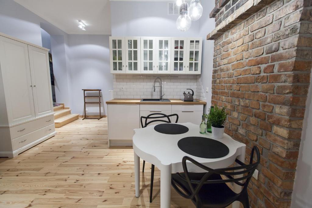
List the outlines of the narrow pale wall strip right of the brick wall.
<svg viewBox="0 0 312 208">
<path fill-rule="evenodd" d="M 302 129 L 298 164 L 294 190 L 292 194 L 292 208 L 312 207 L 312 76 L 309 94 L 305 107 L 305 118 Z"/>
</svg>

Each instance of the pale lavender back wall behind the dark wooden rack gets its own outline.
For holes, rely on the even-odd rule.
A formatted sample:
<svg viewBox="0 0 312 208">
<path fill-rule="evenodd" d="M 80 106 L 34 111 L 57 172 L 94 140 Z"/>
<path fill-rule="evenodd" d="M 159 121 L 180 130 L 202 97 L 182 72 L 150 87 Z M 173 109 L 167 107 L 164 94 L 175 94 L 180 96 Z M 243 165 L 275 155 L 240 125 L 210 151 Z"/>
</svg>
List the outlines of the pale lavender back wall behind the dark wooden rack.
<svg viewBox="0 0 312 208">
<path fill-rule="evenodd" d="M 102 114 L 107 115 L 110 92 L 113 89 L 113 76 L 110 74 L 110 52 L 108 35 L 68 35 L 69 59 L 71 68 L 71 97 L 73 113 L 83 114 L 84 100 L 81 89 L 101 89 Z M 89 99 L 88 101 L 96 101 Z M 98 115 L 98 105 L 86 106 L 88 115 Z"/>
</svg>

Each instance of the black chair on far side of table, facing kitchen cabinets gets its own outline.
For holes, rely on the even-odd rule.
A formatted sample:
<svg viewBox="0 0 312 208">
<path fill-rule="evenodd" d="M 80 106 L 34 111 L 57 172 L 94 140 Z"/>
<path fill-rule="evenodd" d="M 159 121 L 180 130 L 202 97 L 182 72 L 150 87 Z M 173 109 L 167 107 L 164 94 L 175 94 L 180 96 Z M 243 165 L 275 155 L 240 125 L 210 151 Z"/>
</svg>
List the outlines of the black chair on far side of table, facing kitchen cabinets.
<svg viewBox="0 0 312 208">
<path fill-rule="evenodd" d="M 178 114 L 172 114 L 172 115 L 166 115 L 166 114 L 162 114 L 162 113 L 154 113 L 154 114 L 149 114 L 148 116 L 141 116 L 141 126 L 142 128 L 147 127 L 150 123 L 153 122 L 164 122 L 164 123 L 172 123 L 170 120 L 170 117 L 176 116 L 177 119 L 175 121 L 175 123 L 178 123 L 178 119 L 179 116 Z M 168 119 L 168 120 L 163 120 L 164 118 Z M 144 125 L 143 125 L 143 119 L 145 119 Z M 149 119 L 152 119 L 151 121 L 148 121 Z M 144 172 L 144 167 L 145 167 L 145 160 L 143 160 L 143 170 L 142 172 Z M 151 172 L 151 192 L 149 195 L 149 202 L 152 202 L 152 194 L 153 194 L 153 182 L 154 182 L 154 169 L 155 166 L 152 164 L 152 172 Z"/>
</svg>

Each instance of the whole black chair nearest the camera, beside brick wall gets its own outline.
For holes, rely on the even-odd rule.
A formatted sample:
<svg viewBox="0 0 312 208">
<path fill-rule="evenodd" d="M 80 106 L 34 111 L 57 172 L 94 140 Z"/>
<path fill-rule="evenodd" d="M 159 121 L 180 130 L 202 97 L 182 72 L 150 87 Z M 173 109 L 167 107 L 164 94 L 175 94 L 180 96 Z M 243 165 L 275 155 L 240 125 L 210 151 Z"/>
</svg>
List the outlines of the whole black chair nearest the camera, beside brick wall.
<svg viewBox="0 0 312 208">
<path fill-rule="evenodd" d="M 254 152 L 257 155 L 256 162 L 253 162 Z M 190 161 L 208 172 L 188 172 L 186 161 Z M 247 186 L 252 174 L 260 163 L 259 149 L 256 146 L 252 148 L 249 165 L 237 159 L 235 162 L 240 166 L 211 169 L 185 156 L 182 160 L 184 173 L 172 174 L 171 185 L 181 196 L 191 199 L 197 208 L 224 208 L 234 201 L 240 201 L 244 208 L 249 208 Z M 234 178 L 237 175 L 240 176 Z M 236 194 L 232 191 L 226 184 L 230 182 L 242 186 L 241 192 Z"/>
</svg>

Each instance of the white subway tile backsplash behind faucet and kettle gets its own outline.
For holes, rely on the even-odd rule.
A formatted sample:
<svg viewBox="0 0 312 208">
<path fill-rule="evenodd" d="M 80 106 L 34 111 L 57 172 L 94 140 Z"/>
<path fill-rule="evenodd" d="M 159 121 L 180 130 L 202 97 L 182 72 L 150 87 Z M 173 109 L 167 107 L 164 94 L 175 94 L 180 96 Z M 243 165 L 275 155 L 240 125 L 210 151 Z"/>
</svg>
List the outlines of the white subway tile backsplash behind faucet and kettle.
<svg viewBox="0 0 312 208">
<path fill-rule="evenodd" d="M 113 75 L 115 99 L 159 98 L 160 89 L 154 92 L 154 80 L 157 75 Z M 200 82 L 200 75 L 159 75 L 163 81 L 164 99 L 183 99 L 183 92 L 194 90 L 194 98 L 206 100 Z M 155 86 L 159 86 L 159 80 Z"/>
</svg>

